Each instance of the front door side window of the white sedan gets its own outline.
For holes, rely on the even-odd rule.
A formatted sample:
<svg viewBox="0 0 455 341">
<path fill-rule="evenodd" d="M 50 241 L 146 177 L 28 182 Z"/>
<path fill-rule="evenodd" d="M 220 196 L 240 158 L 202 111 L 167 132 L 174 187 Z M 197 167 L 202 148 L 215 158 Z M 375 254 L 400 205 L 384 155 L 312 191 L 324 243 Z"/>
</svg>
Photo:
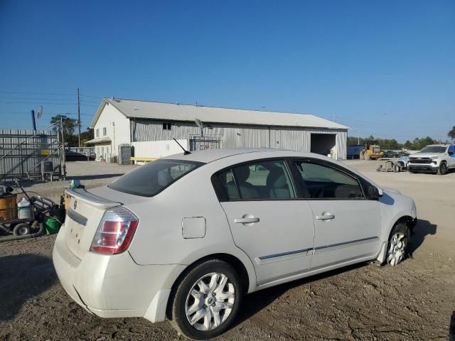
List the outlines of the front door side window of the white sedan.
<svg viewBox="0 0 455 341">
<path fill-rule="evenodd" d="M 363 197 L 356 178 L 336 168 L 296 161 L 305 197 L 314 199 L 358 199 Z"/>
</svg>

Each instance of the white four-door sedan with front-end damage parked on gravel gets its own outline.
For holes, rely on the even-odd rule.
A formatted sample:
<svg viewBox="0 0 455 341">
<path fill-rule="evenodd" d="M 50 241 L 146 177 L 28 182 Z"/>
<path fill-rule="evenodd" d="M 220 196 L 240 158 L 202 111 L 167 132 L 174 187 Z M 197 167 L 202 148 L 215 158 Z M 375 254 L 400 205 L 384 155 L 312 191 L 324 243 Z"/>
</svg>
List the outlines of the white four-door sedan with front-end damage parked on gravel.
<svg viewBox="0 0 455 341">
<path fill-rule="evenodd" d="M 104 318 L 171 320 L 204 340 L 245 293 L 375 261 L 395 266 L 417 220 L 410 197 L 324 156 L 274 149 L 182 153 L 72 197 L 53 262 Z"/>
</svg>

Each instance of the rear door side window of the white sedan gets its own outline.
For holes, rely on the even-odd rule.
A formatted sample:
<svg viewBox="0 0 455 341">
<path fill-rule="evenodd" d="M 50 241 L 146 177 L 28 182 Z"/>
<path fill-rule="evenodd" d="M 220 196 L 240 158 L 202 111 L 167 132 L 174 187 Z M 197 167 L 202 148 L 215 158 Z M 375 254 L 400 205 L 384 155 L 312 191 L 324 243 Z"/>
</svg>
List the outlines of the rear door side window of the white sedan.
<svg viewBox="0 0 455 341">
<path fill-rule="evenodd" d="M 215 175 L 221 200 L 285 200 L 296 197 L 283 160 L 255 161 Z"/>
</svg>

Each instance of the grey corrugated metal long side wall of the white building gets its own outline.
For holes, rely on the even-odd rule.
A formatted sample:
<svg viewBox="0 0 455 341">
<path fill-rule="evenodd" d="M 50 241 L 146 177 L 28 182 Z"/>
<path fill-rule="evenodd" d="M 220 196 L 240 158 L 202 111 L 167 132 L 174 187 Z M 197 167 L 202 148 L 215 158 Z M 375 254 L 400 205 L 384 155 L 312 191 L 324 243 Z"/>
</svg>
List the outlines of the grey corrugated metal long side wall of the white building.
<svg viewBox="0 0 455 341">
<path fill-rule="evenodd" d="M 132 141 L 166 141 L 188 139 L 200 134 L 196 124 L 172 123 L 171 130 L 163 129 L 163 121 L 135 119 L 132 121 Z M 220 139 L 221 148 L 284 148 L 310 151 L 311 134 L 336 134 L 338 158 L 346 158 L 347 132 L 335 129 L 291 128 L 284 126 L 250 126 L 234 124 L 205 124 L 204 135 Z"/>
</svg>

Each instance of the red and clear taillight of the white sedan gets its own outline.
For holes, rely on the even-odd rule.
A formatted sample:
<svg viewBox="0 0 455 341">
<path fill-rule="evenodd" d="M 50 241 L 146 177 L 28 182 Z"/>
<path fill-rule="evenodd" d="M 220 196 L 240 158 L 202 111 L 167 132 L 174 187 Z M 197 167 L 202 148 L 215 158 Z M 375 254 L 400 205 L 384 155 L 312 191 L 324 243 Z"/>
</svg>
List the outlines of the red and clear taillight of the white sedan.
<svg viewBox="0 0 455 341">
<path fill-rule="evenodd" d="M 103 215 L 93 237 L 90 251 L 119 254 L 125 251 L 136 232 L 139 219 L 124 207 L 114 207 Z"/>
</svg>

